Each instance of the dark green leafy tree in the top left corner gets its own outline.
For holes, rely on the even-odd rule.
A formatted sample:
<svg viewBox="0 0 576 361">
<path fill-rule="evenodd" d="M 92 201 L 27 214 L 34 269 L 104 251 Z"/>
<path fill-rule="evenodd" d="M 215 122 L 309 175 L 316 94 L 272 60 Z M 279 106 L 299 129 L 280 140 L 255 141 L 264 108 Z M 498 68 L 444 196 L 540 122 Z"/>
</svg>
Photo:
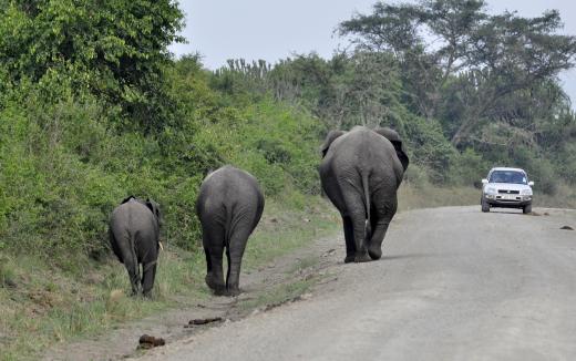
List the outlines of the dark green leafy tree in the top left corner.
<svg viewBox="0 0 576 361">
<path fill-rule="evenodd" d="M 166 100 L 162 70 L 183 13 L 172 0 L 0 0 L 0 64 L 9 81 L 69 84 L 121 104 L 146 127 Z"/>
</svg>

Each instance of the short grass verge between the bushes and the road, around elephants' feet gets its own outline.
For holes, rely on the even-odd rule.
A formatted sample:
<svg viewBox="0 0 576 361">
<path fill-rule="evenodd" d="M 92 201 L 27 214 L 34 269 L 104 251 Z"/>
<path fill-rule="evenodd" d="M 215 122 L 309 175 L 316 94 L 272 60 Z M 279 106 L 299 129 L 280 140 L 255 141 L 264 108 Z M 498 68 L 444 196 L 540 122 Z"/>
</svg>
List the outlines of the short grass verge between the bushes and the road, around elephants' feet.
<svg viewBox="0 0 576 361">
<path fill-rule="evenodd" d="M 336 231 L 337 219 L 332 207 L 319 197 L 268 202 L 248 241 L 243 268 L 257 269 Z M 64 274 L 33 257 L 2 256 L 0 260 L 0 360 L 34 359 L 54 343 L 93 337 L 122 322 L 195 305 L 210 295 L 204 283 L 204 252 L 173 248 L 169 241 L 158 260 L 153 300 L 126 296 L 126 270 L 112 257 L 104 262 L 86 260 L 76 271 Z M 251 302 L 291 299 L 310 285 L 311 280 L 282 285 Z"/>
</svg>

